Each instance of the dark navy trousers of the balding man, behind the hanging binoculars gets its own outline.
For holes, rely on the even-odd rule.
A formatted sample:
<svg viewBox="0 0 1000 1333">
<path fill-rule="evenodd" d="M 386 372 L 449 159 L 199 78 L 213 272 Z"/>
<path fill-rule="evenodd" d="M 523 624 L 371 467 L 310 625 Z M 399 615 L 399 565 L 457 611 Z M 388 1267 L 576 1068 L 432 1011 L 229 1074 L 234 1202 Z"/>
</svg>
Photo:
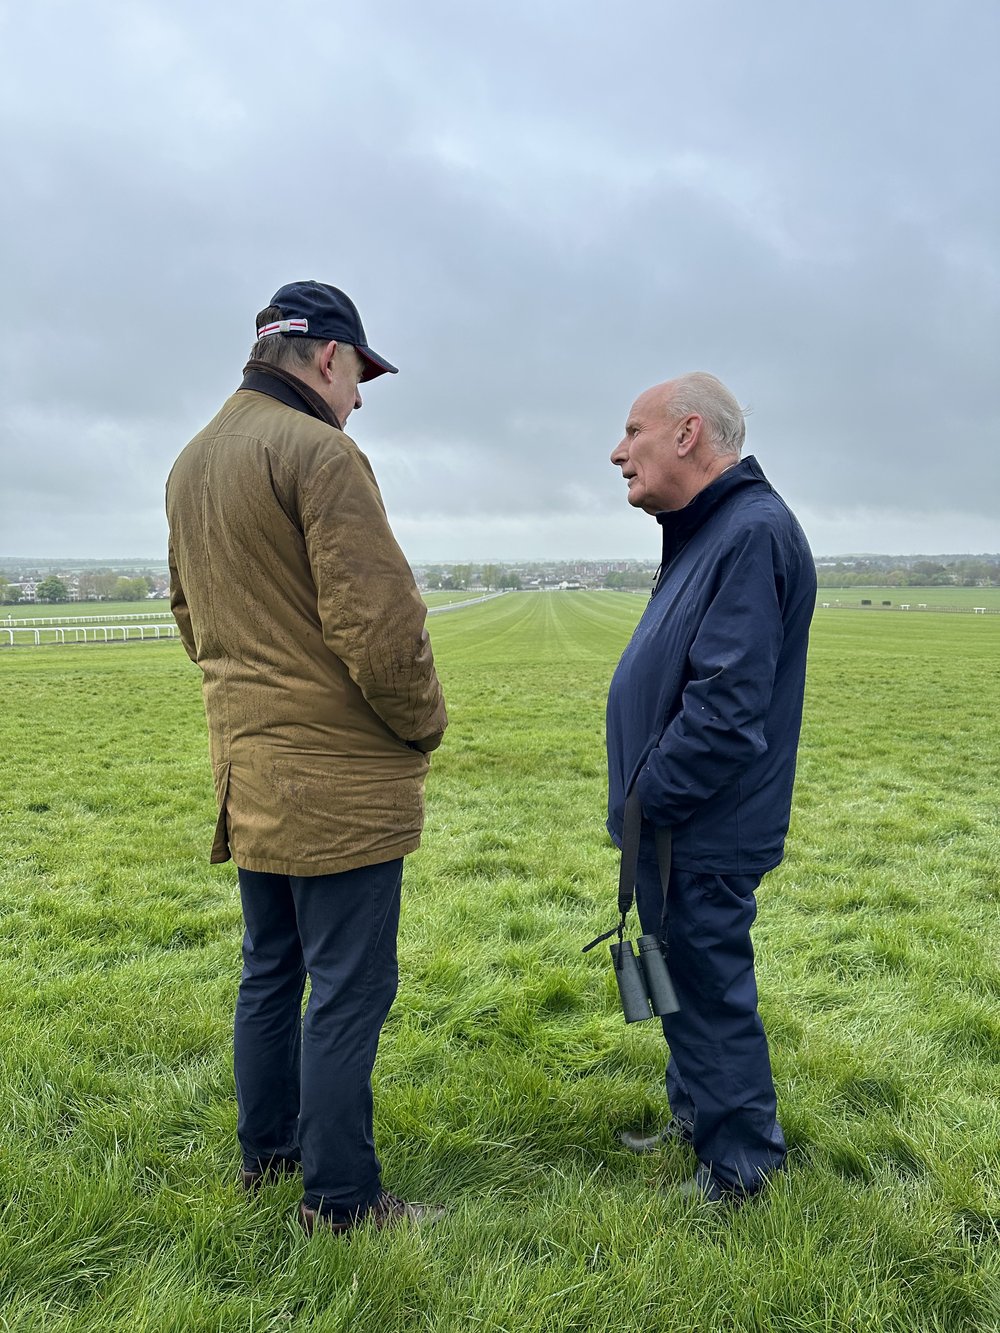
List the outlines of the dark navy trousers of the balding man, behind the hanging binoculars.
<svg viewBox="0 0 1000 1333">
<path fill-rule="evenodd" d="M 760 878 L 672 869 L 667 894 L 667 964 L 680 1004 L 663 1018 L 667 1097 L 693 1125 L 695 1152 L 713 1180 L 745 1193 L 785 1160 L 753 976 Z M 656 862 L 639 862 L 636 905 L 643 929 L 663 938 Z"/>
</svg>

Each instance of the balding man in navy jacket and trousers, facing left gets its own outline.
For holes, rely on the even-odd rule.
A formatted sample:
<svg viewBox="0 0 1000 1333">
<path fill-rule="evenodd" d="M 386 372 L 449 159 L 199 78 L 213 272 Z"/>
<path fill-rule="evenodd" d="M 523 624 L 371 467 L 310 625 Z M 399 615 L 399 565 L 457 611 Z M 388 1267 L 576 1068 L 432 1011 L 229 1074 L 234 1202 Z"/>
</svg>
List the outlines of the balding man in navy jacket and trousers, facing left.
<svg viewBox="0 0 1000 1333">
<path fill-rule="evenodd" d="M 715 376 L 636 399 L 611 455 L 663 529 L 660 575 L 608 696 L 608 829 L 643 808 L 636 904 L 661 934 L 680 1010 L 663 1018 L 672 1117 L 623 1142 L 695 1148 L 689 1196 L 756 1193 L 785 1158 L 751 926 L 788 832 L 816 571 L 795 516 Z M 664 909 L 653 826 L 672 830 Z M 665 924 L 664 924 L 665 920 Z"/>
</svg>

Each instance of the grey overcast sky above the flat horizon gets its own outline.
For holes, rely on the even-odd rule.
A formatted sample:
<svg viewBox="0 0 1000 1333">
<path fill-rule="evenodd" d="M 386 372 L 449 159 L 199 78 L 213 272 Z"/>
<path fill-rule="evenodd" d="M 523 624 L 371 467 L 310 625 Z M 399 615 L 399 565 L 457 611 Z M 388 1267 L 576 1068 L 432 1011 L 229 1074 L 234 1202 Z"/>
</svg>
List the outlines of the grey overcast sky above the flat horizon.
<svg viewBox="0 0 1000 1333">
<path fill-rule="evenodd" d="M 997 552 L 999 91 L 993 0 L 0 0 L 0 555 L 161 559 L 304 277 L 413 561 L 655 559 L 692 369 L 817 555 Z"/>
</svg>

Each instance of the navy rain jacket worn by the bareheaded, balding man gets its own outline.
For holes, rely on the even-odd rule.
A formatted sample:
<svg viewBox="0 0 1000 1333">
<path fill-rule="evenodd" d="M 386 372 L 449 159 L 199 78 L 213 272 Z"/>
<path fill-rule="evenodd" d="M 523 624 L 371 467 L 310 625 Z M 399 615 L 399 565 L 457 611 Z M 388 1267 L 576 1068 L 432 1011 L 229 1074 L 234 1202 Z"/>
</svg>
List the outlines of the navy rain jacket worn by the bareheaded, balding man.
<svg viewBox="0 0 1000 1333">
<path fill-rule="evenodd" d="M 608 694 L 608 830 L 621 845 L 635 780 L 679 869 L 763 874 L 788 832 L 812 555 L 752 456 L 656 521 L 660 579 Z"/>
</svg>

